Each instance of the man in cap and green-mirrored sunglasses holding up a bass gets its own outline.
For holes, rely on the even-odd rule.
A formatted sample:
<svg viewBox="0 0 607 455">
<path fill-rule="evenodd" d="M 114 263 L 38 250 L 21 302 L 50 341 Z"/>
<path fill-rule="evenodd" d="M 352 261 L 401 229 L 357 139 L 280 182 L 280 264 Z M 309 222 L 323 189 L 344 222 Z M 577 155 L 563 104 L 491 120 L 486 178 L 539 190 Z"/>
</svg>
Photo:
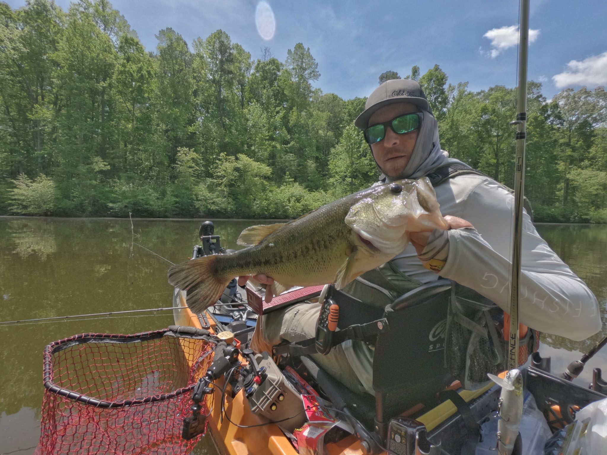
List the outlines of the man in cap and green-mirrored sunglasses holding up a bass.
<svg viewBox="0 0 607 455">
<path fill-rule="evenodd" d="M 462 165 L 441 150 L 438 123 L 421 87 L 410 79 L 381 84 L 354 124 L 364 131 L 382 181 L 420 178 L 449 164 Z M 436 187 L 449 231 L 412 232 L 411 243 L 390 261 L 387 280 L 429 283 L 449 278 L 509 310 L 512 205 L 514 197 L 492 178 L 456 175 Z M 601 328 L 592 292 L 538 235 L 523 215 L 520 322 L 542 332 L 583 340 Z M 258 275 L 271 286 L 271 277 Z M 240 277 L 244 284 L 247 277 Z M 271 298 L 271 292 L 268 292 Z M 271 345 L 314 336 L 319 305 L 302 303 L 268 314 L 263 335 Z M 347 341 L 314 360 L 357 392 L 373 394 L 373 352 Z"/>
</svg>

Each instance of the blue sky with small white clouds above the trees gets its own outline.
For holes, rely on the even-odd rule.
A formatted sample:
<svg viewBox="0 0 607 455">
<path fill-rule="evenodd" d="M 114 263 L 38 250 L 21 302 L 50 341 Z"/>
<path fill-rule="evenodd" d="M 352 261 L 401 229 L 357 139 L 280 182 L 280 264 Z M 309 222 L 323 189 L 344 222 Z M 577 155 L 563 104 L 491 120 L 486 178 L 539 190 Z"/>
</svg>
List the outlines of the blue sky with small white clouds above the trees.
<svg viewBox="0 0 607 455">
<path fill-rule="evenodd" d="M 56 0 L 67 10 L 69 0 Z M 13 8 L 25 0 L 8 0 Z M 154 50 L 158 30 L 172 27 L 188 44 L 217 29 L 227 32 L 253 58 L 265 46 L 280 61 L 297 42 L 310 47 L 320 79 L 314 86 L 344 99 L 367 96 L 378 76 L 401 76 L 413 65 L 422 74 L 434 64 L 449 83 L 470 90 L 517 84 L 518 2 L 467 1 L 272 1 L 276 29 L 266 41 L 256 27 L 258 1 L 114 0 L 146 49 Z M 607 2 L 532 0 L 529 79 L 543 83 L 552 98 L 563 88 L 607 85 Z M 510 27 L 510 28 L 507 28 Z"/>
</svg>

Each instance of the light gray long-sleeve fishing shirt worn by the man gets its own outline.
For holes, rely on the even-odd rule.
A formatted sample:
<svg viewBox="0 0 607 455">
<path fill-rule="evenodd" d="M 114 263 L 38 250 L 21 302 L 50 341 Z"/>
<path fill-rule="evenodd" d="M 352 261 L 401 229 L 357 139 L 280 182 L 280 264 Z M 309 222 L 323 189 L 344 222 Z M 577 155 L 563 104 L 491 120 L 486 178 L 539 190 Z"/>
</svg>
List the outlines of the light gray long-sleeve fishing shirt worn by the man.
<svg viewBox="0 0 607 455">
<path fill-rule="evenodd" d="M 436 199 L 443 215 L 469 221 L 474 229 L 444 231 L 446 264 L 438 274 L 422 265 L 412 244 L 393 259 L 405 274 L 422 283 L 439 277 L 467 286 L 509 311 L 514 196 L 481 175 L 459 175 L 439 184 Z M 520 322 L 571 340 L 583 340 L 601 329 L 597 298 L 571 271 L 523 214 Z M 348 360 L 372 393 L 372 352 L 364 343 L 344 343 Z"/>
</svg>

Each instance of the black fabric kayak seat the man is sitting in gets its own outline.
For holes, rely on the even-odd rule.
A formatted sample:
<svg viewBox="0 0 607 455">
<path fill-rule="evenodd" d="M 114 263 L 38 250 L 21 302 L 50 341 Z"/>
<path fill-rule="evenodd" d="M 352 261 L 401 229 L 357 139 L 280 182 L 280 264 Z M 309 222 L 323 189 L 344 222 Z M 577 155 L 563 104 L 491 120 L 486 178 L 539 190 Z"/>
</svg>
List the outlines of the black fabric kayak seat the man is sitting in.
<svg viewBox="0 0 607 455">
<path fill-rule="evenodd" d="M 437 280 L 419 286 L 385 308 L 361 302 L 333 286 L 327 293 L 342 309 L 339 329 L 385 318 L 388 331 L 367 337 L 374 346 L 371 395 L 353 393 L 314 364 L 308 371 L 334 403 L 347 403 L 348 411 L 368 429 L 389 422 L 418 403 L 434 404 L 436 393 L 452 383 L 444 366 L 447 308 L 455 283 Z M 345 309 L 347 308 L 347 311 Z M 309 357 L 304 366 L 313 362 Z M 326 389 L 326 390 L 325 390 Z"/>
</svg>

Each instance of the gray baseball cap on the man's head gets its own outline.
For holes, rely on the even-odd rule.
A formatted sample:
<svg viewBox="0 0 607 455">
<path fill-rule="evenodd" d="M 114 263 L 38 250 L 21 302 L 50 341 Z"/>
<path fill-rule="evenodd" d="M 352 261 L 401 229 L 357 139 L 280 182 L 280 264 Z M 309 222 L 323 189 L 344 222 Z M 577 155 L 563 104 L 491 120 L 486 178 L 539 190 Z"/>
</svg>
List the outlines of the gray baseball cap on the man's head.
<svg viewBox="0 0 607 455">
<path fill-rule="evenodd" d="M 369 125 L 369 118 L 380 107 L 392 103 L 411 103 L 432 113 L 424 90 L 413 79 L 390 79 L 385 81 L 367 98 L 364 112 L 354 120 L 354 125 L 364 130 Z"/>
</svg>

